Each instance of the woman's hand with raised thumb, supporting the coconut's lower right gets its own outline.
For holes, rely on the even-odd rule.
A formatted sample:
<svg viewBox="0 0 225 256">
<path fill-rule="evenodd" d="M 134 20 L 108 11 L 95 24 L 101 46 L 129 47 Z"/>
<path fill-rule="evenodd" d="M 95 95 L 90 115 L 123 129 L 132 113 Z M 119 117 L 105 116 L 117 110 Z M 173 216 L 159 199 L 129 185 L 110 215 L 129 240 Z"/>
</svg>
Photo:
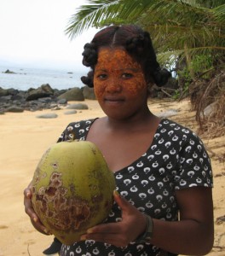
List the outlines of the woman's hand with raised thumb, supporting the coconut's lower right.
<svg viewBox="0 0 225 256">
<path fill-rule="evenodd" d="M 146 230 L 147 219 L 144 214 L 133 207 L 129 201 L 114 191 L 114 200 L 122 211 L 122 220 L 117 223 L 99 224 L 87 230 L 81 240 L 95 240 L 126 247 L 130 241 L 136 240 Z"/>
</svg>

